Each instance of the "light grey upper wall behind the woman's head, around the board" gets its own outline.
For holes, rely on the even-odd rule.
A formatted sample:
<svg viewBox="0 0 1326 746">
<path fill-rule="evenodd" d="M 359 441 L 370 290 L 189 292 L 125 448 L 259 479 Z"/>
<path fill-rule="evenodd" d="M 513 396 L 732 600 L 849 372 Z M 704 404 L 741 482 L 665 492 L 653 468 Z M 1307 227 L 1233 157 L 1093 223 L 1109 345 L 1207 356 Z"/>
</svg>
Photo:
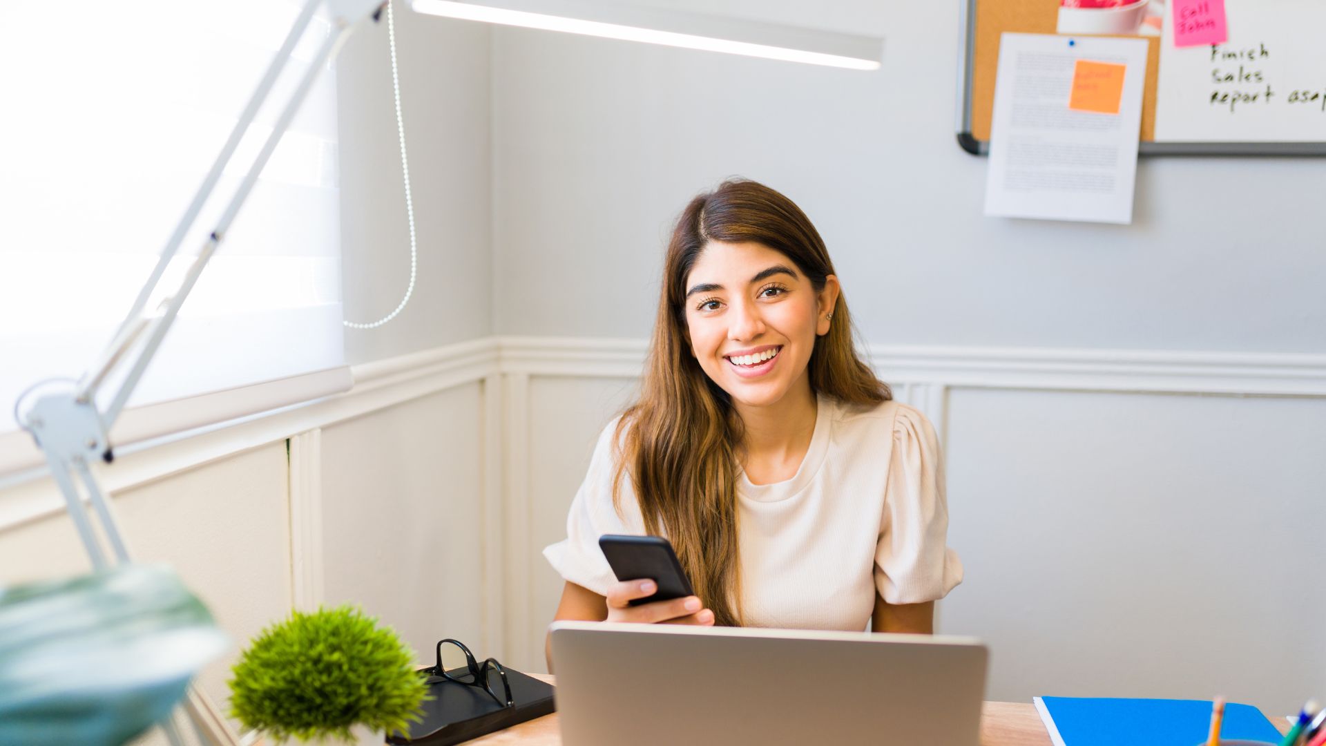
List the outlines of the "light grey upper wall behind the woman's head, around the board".
<svg viewBox="0 0 1326 746">
<path fill-rule="evenodd" d="M 1319 161 L 1148 158 L 1131 227 L 984 218 L 959 0 L 666 4 L 880 35 L 884 65 L 495 31 L 500 333 L 646 335 L 671 220 L 745 175 L 810 215 L 873 342 L 1326 350 Z"/>
</svg>

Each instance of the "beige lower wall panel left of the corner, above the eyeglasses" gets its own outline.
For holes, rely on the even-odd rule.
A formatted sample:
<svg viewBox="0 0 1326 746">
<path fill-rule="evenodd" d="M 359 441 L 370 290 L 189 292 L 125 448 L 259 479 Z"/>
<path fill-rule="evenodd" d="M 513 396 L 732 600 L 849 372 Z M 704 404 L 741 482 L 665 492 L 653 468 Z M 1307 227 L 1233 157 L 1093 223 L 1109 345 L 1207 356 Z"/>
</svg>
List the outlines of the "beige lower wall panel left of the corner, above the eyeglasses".
<svg viewBox="0 0 1326 746">
<path fill-rule="evenodd" d="M 467 384 L 322 431 L 329 604 L 359 604 L 431 661 L 484 629 L 483 397 Z"/>
</svg>

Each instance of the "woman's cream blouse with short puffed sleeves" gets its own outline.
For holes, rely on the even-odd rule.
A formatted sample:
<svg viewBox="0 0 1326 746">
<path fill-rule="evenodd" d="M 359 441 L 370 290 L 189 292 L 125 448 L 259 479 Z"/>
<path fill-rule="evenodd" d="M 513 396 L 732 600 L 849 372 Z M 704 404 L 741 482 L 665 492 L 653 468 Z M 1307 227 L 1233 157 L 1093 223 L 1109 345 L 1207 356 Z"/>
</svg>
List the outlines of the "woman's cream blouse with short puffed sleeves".
<svg viewBox="0 0 1326 746">
<path fill-rule="evenodd" d="M 644 534 L 629 478 L 613 506 L 617 422 L 599 435 L 566 518 L 544 550 L 561 576 L 595 593 L 615 580 L 603 534 Z M 854 408 L 818 397 L 815 429 L 786 482 L 737 486 L 741 608 L 752 627 L 859 631 L 875 593 L 890 604 L 944 597 L 963 580 L 945 544 L 948 503 L 935 429 L 903 404 Z"/>
</svg>

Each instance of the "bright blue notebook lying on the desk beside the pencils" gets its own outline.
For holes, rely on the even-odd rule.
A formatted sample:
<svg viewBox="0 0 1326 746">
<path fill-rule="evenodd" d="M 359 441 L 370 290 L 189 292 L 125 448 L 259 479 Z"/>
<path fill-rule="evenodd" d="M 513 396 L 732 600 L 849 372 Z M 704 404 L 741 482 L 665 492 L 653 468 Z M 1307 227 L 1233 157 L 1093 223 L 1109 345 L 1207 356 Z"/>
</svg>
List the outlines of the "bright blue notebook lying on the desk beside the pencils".
<svg viewBox="0 0 1326 746">
<path fill-rule="evenodd" d="M 1211 702 L 1037 697 L 1054 746 L 1199 746 L 1211 731 Z M 1225 705 L 1220 738 L 1280 743 L 1281 734 L 1252 705 Z"/>
</svg>

